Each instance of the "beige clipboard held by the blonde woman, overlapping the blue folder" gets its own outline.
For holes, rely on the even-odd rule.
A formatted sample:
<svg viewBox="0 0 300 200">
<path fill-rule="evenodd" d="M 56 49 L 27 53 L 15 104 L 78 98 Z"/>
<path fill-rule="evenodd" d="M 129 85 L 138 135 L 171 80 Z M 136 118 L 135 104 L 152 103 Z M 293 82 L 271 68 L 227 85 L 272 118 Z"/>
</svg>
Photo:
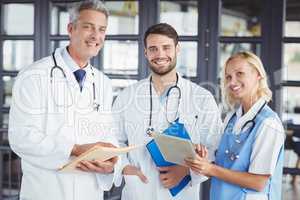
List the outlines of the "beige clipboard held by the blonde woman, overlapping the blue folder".
<svg viewBox="0 0 300 200">
<path fill-rule="evenodd" d="M 155 134 L 154 140 L 164 159 L 168 162 L 186 166 L 184 159 L 196 157 L 194 145 L 188 139 Z"/>
</svg>

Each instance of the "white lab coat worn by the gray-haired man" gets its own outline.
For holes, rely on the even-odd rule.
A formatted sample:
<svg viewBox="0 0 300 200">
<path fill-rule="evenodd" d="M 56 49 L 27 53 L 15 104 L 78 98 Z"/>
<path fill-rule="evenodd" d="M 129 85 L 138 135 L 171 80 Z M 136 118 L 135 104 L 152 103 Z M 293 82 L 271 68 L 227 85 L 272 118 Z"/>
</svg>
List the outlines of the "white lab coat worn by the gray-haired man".
<svg viewBox="0 0 300 200">
<path fill-rule="evenodd" d="M 9 142 L 21 157 L 20 199 L 30 200 L 101 200 L 109 190 L 113 174 L 57 171 L 70 160 L 74 144 L 105 141 L 117 143 L 111 115 L 111 81 L 96 68 L 92 76 L 88 66 L 83 90 L 64 63 L 62 49 L 55 57 L 62 67 L 50 70 L 52 57 L 24 68 L 13 88 L 9 119 Z M 93 111 L 92 82 L 96 86 L 99 112 Z"/>
</svg>

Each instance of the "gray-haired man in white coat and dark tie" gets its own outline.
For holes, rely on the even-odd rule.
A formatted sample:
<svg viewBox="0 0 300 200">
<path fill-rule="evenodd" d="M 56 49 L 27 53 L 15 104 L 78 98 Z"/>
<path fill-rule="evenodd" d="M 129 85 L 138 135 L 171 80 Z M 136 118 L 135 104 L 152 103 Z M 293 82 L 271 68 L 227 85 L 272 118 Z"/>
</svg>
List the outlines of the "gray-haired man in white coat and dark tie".
<svg viewBox="0 0 300 200">
<path fill-rule="evenodd" d="M 97 0 L 70 12 L 67 47 L 25 67 L 13 88 L 9 142 L 22 161 L 20 199 L 101 200 L 117 158 L 59 169 L 94 145 L 116 144 L 111 81 L 89 60 L 102 48 L 108 11 Z"/>
</svg>

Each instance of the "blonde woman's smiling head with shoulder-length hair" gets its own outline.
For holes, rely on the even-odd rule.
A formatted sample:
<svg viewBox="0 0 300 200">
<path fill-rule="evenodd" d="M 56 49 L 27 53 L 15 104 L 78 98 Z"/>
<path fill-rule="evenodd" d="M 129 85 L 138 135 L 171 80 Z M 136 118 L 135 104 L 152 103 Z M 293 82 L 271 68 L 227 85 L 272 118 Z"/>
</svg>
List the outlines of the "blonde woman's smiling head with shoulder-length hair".
<svg viewBox="0 0 300 200">
<path fill-rule="evenodd" d="M 263 64 L 250 52 L 237 53 L 226 61 L 222 89 L 224 103 L 231 108 L 236 104 L 242 104 L 244 112 L 247 112 L 259 98 L 264 97 L 267 101 L 272 98 Z"/>
</svg>

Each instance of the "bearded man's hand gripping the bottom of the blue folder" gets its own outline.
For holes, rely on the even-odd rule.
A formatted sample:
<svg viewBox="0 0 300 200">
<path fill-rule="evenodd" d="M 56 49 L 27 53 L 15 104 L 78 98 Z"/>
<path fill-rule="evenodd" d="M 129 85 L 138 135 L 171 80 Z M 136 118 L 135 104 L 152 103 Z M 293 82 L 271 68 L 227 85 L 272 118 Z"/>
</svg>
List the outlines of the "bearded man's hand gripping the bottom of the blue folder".
<svg viewBox="0 0 300 200">
<path fill-rule="evenodd" d="M 159 179 L 165 188 L 172 188 L 189 174 L 189 168 L 175 165 L 170 167 L 159 167 Z"/>
</svg>

